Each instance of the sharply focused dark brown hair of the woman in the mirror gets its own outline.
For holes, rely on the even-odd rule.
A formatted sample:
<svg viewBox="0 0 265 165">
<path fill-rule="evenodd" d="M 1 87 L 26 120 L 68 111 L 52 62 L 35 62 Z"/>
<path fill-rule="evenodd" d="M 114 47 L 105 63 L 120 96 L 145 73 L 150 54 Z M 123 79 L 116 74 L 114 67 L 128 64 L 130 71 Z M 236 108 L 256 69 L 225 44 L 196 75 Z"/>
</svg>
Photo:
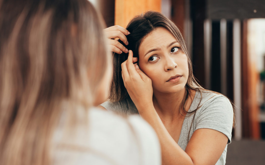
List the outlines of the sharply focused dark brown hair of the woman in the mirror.
<svg viewBox="0 0 265 165">
<path fill-rule="evenodd" d="M 189 75 L 188 75 L 187 83 L 185 85 L 185 96 L 182 100 L 179 111 L 181 114 L 183 114 L 182 112 L 189 113 L 189 114 L 195 113 L 196 110 L 201 107 L 199 106 L 200 103 L 198 104 L 198 107 L 192 112 L 185 111 L 187 100 L 189 97 L 191 97 L 190 95 L 191 89 L 199 91 L 201 93 L 201 96 L 202 96 L 202 91 L 208 91 L 208 92 L 213 92 L 213 91 L 209 91 L 201 87 L 200 84 L 196 81 L 196 78 L 193 76 L 192 62 L 188 55 L 185 41 L 178 27 L 175 25 L 175 23 L 173 23 L 171 20 L 169 20 L 165 15 L 163 15 L 160 12 L 147 11 L 144 14 L 134 17 L 128 23 L 126 29 L 130 32 L 130 34 L 127 35 L 127 40 L 129 42 L 129 45 L 127 46 L 124 45 L 122 41 L 120 41 L 120 43 L 123 44 L 123 46 L 125 46 L 128 50 L 132 50 L 134 57 L 138 57 L 139 59 L 138 51 L 139 51 L 140 44 L 142 43 L 143 39 L 150 32 L 155 30 L 157 27 L 164 27 L 169 32 L 171 32 L 171 34 L 173 34 L 173 36 L 179 42 L 180 48 L 183 50 L 183 52 L 187 56 Z M 127 58 L 128 58 L 127 53 L 122 53 L 120 55 L 114 53 L 114 57 L 113 57 L 114 74 L 113 74 L 113 80 L 112 80 L 111 89 L 110 89 L 110 101 L 111 102 L 120 101 L 120 100 L 125 99 L 126 97 L 129 97 L 128 92 L 124 86 L 122 76 L 121 76 L 121 63 L 127 60 Z M 214 93 L 218 93 L 218 92 L 214 92 Z"/>
</svg>

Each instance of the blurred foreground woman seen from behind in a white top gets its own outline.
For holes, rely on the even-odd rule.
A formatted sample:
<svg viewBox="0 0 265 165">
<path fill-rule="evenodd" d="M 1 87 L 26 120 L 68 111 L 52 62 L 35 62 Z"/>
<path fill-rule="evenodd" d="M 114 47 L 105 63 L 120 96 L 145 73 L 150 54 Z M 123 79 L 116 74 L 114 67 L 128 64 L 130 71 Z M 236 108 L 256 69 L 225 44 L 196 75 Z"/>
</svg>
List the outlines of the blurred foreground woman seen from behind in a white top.
<svg viewBox="0 0 265 165">
<path fill-rule="evenodd" d="M 160 164 L 138 116 L 108 97 L 112 56 L 87 0 L 0 1 L 0 164 Z"/>
</svg>

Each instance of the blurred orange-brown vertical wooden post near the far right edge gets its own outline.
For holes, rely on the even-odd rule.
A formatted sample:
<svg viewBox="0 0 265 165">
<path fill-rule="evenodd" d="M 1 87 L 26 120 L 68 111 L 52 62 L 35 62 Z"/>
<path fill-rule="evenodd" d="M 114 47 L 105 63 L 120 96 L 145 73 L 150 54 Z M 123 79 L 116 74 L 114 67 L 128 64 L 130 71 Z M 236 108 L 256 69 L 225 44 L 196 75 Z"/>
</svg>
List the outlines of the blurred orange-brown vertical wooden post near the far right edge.
<svg viewBox="0 0 265 165">
<path fill-rule="evenodd" d="M 259 105 L 257 98 L 257 87 L 259 74 L 256 67 L 256 54 L 252 48 L 255 48 L 255 29 L 251 25 L 251 19 L 243 22 L 243 40 L 242 40 L 242 79 L 243 79 L 243 126 L 248 128 L 243 134 L 249 134 L 253 139 L 260 138 L 260 124 L 258 121 Z M 245 129 L 243 128 L 243 130 Z"/>
</svg>

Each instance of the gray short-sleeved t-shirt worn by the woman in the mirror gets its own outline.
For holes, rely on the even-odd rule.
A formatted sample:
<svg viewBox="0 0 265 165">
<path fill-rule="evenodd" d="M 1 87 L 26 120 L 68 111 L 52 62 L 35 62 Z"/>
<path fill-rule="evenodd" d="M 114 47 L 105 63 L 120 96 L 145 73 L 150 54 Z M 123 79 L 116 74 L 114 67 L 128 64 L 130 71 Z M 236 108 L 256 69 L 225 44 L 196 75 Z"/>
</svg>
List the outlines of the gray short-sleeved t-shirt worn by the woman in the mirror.
<svg viewBox="0 0 265 165">
<path fill-rule="evenodd" d="M 196 92 L 189 112 L 195 110 L 200 102 L 201 94 Z M 201 106 L 202 105 L 202 106 Z M 101 104 L 105 109 L 114 111 L 118 114 L 139 114 L 133 101 L 130 97 L 118 102 L 104 102 Z M 196 113 L 187 114 L 183 121 L 181 133 L 179 136 L 178 145 L 185 150 L 188 140 L 191 138 L 193 132 L 200 128 L 214 129 L 225 134 L 228 138 L 227 144 L 231 143 L 232 125 L 233 125 L 233 108 L 230 101 L 223 95 L 213 92 L 202 92 L 202 100 L 200 108 Z M 193 116 L 194 120 L 193 119 Z M 191 130 L 190 130 L 191 128 Z M 190 130 L 190 134 L 189 134 Z M 188 137 L 189 134 L 189 137 Z M 226 163 L 227 145 L 216 165 L 223 165 Z"/>
</svg>

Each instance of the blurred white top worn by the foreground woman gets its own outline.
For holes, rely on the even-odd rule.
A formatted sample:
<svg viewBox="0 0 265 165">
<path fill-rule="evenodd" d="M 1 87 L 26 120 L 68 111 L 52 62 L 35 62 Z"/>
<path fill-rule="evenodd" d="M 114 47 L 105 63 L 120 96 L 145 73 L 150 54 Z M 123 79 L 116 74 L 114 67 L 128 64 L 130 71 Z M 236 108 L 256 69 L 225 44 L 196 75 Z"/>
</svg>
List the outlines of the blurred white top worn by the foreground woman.
<svg viewBox="0 0 265 165">
<path fill-rule="evenodd" d="M 53 164 L 161 164 L 157 135 L 139 116 L 122 117 L 98 108 L 78 110 L 77 115 L 88 115 L 87 122 L 76 121 L 71 134 L 65 134 L 63 116 L 55 131 Z"/>
</svg>

